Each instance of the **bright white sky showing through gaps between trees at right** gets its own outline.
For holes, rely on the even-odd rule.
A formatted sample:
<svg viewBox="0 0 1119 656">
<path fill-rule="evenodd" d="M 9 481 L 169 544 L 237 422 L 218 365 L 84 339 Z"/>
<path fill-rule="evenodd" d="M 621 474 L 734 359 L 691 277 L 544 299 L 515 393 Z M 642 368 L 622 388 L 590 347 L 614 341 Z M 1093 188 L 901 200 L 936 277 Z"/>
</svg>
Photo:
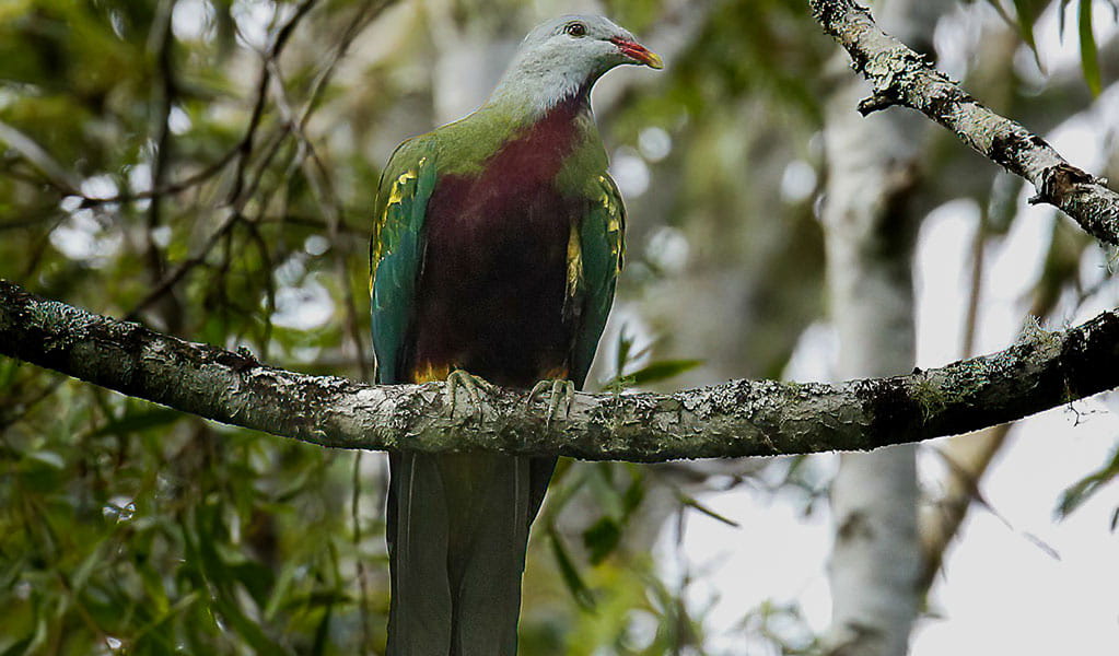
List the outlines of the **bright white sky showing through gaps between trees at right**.
<svg viewBox="0 0 1119 656">
<path fill-rule="evenodd" d="M 1102 9 L 1103 3 L 1098 4 Z M 1069 6 L 1072 30 L 1075 6 Z M 1113 32 L 1115 21 L 1104 11 L 1096 18 L 1098 42 L 1103 42 L 1104 29 Z M 1075 34 L 1062 42 L 1055 16 L 1043 18 L 1037 35 L 1050 70 L 1076 64 Z M 1029 61 L 1023 67 L 1031 66 Z M 1112 87 L 1104 96 L 1103 110 L 1075 117 L 1047 135 L 1072 162 L 1097 172 L 1102 163 L 1101 134 L 1119 133 L 1119 88 Z M 1027 208 L 1025 194 L 1019 205 L 1023 212 L 1012 234 L 988 253 L 977 340 L 980 352 L 1003 349 L 1018 333 L 1028 303 L 1026 292 L 1037 278 L 1049 241 L 1052 211 Z M 959 358 L 968 251 L 977 217 L 974 203 L 957 201 L 933 211 L 922 228 L 916 254 L 918 364 L 922 368 Z M 1103 260 L 1101 250 L 1090 253 L 1082 263 L 1082 276 L 1102 278 Z M 1079 323 L 1117 305 L 1119 286 L 1112 283 L 1080 314 L 1070 316 L 1065 308 L 1046 327 Z M 833 378 L 826 363 L 835 360 L 835 348 L 830 329 L 814 326 L 801 340 L 788 378 Z M 929 611 L 935 617 L 922 619 L 913 635 L 913 656 L 1116 653 L 1119 532 L 1110 531 L 1110 522 L 1119 507 L 1119 485 L 1099 492 L 1071 517 L 1054 519 L 1061 493 L 1099 468 L 1116 448 L 1119 417 L 1108 405 L 1119 408 L 1119 401 L 1097 398 L 1075 403 L 1075 412 L 1057 408 L 1015 428 L 980 485 L 998 516 L 972 506 L 934 584 Z M 920 458 L 922 481 L 934 485 L 935 456 L 927 448 Z M 836 462 L 835 456 L 822 456 L 820 467 L 831 472 Z M 669 580 L 684 567 L 695 577 L 687 598 L 694 612 L 706 609 L 709 653 L 768 653 L 760 652 L 758 644 L 743 645 L 749 638 L 743 637 L 740 624 L 749 610 L 767 600 L 799 601 L 811 628 L 826 629 L 830 597 L 825 563 L 831 542 L 826 504 L 806 519 L 792 495 L 774 497 L 746 486 L 708 494 L 702 501 L 742 527 L 693 512 L 679 549 L 674 525 L 665 529 L 657 549 Z"/>
</svg>

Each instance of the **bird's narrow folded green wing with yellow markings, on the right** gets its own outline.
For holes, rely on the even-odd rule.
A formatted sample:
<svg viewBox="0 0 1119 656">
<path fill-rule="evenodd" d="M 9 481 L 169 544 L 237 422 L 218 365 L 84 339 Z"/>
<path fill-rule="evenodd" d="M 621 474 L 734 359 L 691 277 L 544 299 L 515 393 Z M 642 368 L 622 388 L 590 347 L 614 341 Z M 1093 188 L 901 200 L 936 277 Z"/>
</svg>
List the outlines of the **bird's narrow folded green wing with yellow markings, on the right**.
<svg viewBox="0 0 1119 656">
<path fill-rule="evenodd" d="M 614 285 L 626 255 L 626 207 L 610 175 L 599 177 L 600 191 L 580 225 L 579 249 L 568 248 L 582 260 L 582 316 L 572 353 L 571 379 L 580 388 L 591 370 L 599 337 L 614 302 Z M 568 265 L 571 262 L 568 262 Z"/>
</svg>

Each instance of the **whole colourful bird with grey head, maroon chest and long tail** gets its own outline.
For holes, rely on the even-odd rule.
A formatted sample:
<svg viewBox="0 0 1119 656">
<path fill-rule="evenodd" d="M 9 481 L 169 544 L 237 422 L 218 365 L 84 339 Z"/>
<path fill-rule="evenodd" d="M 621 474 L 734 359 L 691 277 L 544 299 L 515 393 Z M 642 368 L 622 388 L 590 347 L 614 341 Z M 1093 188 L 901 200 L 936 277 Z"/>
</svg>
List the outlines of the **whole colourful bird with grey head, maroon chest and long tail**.
<svg viewBox="0 0 1119 656">
<path fill-rule="evenodd" d="M 661 67 L 605 18 L 549 20 L 481 108 L 396 149 L 370 247 L 378 383 L 448 379 L 451 408 L 457 388 L 534 388 L 552 412 L 582 387 L 626 224 L 590 93 L 620 64 Z M 516 654 L 528 527 L 554 466 L 391 457 L 391 656 Z"/>
</svg>

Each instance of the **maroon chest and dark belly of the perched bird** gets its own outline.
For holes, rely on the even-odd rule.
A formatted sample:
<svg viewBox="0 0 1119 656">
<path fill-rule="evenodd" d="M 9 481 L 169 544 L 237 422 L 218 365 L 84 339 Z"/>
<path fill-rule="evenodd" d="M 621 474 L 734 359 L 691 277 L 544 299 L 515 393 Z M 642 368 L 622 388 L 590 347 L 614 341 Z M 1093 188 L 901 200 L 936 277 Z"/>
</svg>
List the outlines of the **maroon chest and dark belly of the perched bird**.
<svg viewBox="0 0 1119 656">
<path fill-rule="evenodd" d="M 575 329 L 563 317 L 567 240 L 584 201 L 563 197 L 554 180 L 584 108 L 552 110 L 478 175 L 439 179 L 406 370 L 458 367 L 527 387 L 566 368 Z"/>
</svg>

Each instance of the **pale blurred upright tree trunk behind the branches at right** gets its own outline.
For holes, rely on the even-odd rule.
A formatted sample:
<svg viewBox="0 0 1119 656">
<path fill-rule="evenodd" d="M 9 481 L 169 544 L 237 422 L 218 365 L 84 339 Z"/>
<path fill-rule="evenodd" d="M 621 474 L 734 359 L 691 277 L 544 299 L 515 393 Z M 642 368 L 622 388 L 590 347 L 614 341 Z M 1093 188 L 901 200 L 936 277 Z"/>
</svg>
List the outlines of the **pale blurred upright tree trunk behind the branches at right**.
<svg viewBox="0 0 1119 656">
<path fill-rule="evenodd" d="M 881 22 L 919 50 L 946 2 L 895 0 Z M 924 42 L 915 42 L 924 39 Z M 855 111 L 866 85 L 843 85 L 829 99 L 822 206 L 831 314 L 839 333 L 840 378 L 909 371 L 914 361 L 912 253 L 918 217 L 911 196 L 918 116 Z M 916 618 L 921 573 L 915 447 L 841 456 L 831 488 L 835 545 L 828 564 L 830 654 L 902 656 Z"/>
</svg>

